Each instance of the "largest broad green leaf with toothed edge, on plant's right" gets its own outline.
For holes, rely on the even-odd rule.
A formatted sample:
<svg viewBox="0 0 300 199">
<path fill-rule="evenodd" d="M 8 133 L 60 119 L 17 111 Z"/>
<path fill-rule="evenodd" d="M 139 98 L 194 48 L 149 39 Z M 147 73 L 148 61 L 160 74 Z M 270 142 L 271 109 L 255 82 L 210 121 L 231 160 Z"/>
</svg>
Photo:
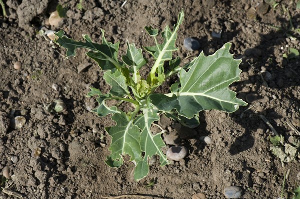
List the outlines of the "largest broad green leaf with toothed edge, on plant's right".
<svg viewBox="0 0 300 199">
<path fill-rule="evenodd" d="M 186 118 L 192 118 L 202 110 L 215 109 L 231 113 L 238 106 L 247 105 L 228 88 L 231 83 L 239 80 L 241 72 L 238 68 L 241 60 L 232 58 L 230 46 L 230 43 L 226 43 L 207 57 L 201 52 L 187 72 L 181 70 L 181 88 L 177 92 L 150 94 L 150 102 L 161 111 L 176 109 L 178 115 Z"/>
</svg>

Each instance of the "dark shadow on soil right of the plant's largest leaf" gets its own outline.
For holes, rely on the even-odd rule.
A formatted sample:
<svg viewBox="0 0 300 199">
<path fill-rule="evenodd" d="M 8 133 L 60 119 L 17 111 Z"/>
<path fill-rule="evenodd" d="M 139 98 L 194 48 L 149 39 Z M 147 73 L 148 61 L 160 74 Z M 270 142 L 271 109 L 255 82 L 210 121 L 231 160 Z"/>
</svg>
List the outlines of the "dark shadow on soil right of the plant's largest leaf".
<svg viewBox="0 0 300 199">
<path fill-rule="evenodd" d="M 294 18 L 300 17 L 299 15 L 295 15 Z M 289 24 L 289 21 L 286 21 L 284 18 L 276 18 L 276 20 L 281 22 L 281 27 L 284 27 L 284 24 Z M 292 20 L 292 19 L 291 19 Z M 253 60 L 255 62 L 260 62 L 262 63 L 262 65 L 264 65 L 265 63 L 267 63 L 269 60 L 276 60 L 275 57 L 275 52 L 274 52 L 274 45 L 278 45 L 282 42 L 283 39 L 285 39 L 286 37 L 286 33 L 289 32 L 289 30 L 285 29 L 284 30 L 278 30 L 278 31 L 272 31 L 268 34 L 260 34 L 260 44 L 255 46 L 254 48 L 258 48 L 262 51 L 261 56 L 259 56 L 259 60 L 255 61 L 255 59 L 257 59 L 257 57 L 254 56 L 249 56 L 248 58 L 253 58 Z M 295 35 L 294 35 L 295 36 Z M 300 39 L 300 37 L 297 35 L 296 36 L 297 39 Z M 277 39 L 282 39 L 277 40 Z M 279 43 L 278 43 L 279 41 Z M 261 60 L 262 59 L 262 60 Z M 245 63 L 244 60 L 242 61 L 243 63 L 241 63 L 241 69 L 244 71 L 244 69 L 249 70 L 251 67 L 253 67 L 253 65 L 255 65 L 255 62 L 253 63 Z M 269 67 L 267 67 L 267 71 L 271 74 L 284 74 L 287 72 L 295 72 L 296 69 L 296 64 L 295 63 L 296 60 L 288 60 L 288 59 L 283 59 L 282 61 L 282 65 L 279 66 L 279 63 L 276 63 L 275 61 L 272 61 L 269 64 Z M 292 68 L 292 66 L 294 66 Z M 260 66 L 258 66 L 260 67 Z M 262 75 L 260 74 L 260 68 L 253 68 L 255 70 L 255 75 L 253 76 L 249 76 L 249 79 L 260 79 L 261 84 L 265 81 L 262 77 Z M 287 71 L 289 70 L 289 71 Z M 298 75 L 295 72 L 296 75 Z M 279 77 L 281 78 L 281 77 Z M 273 77 L 274 79 L 274 77 Z M 288 81 L 287 79 L 284 79 L 284 83 L 283 84 L 279 84 L 278 85 L 278 81 L 274 82 L 273 79 L 271 79 L 270 81 L 267 82 L 267 86 L 266 89 L 277 89 L 277 90 L 282 90 L 284 88 L 288 88 L 290 86 L 299 86 L 300 85 L 300 81 Z M 255 80 L 254 80 L 255 81 Z M 237 86 L 237 90 L 242 90 L 242 85 L 243 85 L 243 81 L 238 82 L 238 86 Z M 250 93 L 255 93 L 257 92 L 258 87 L 255 90 L 252 90 Z M 248 93 L 240 93 L 241 96 L 245 96 Z M 292 98 L 291 96 L 286 95 L 285 96 L 287 99 L 289 100 L 297 100 Z M 251 106 L 251 103 L 248 103 L 249 107 Z M 247 107 L 245 107 L 244 109 L 246 109 Z M 279 119 L 279 118 L 283 118 L 284 116 L 276 114 L 275 111 L 273 109 L 265 109 L 262 110 L 261 112 L 254 112 L 251 109 L 246 111 L 247 115 L 252 115 L 253 117 L 248 117 L 247 119 L 242 119 L 242 118 L 237 118 L 234 117 L 233 120 L 240 124 L 244 129 L 245 132 L 243 135 L 241 135 L 240 137 L 238 137 L 234 143 L 230 146 L 229 149 L 229 153 L 231 155 L 235 155 L 238 154 L 240 152 L 246 151 L 248 149 L 250 149 L 253 145 L 254 145 L 254 137 L 252 135 L 252 132 L 254 132 L 255 130 L 257 130 L 258 128 L 261 128 L 259 125 L 257 125 L 257 122 L 259 123 L 259 115 L 265 115 L 266 118 L 271 118 L 271 119 Z M 238 114 L 239 115 L 239 114 Z M 247 120 L 245 122 L 245 120 Z M 272 121 L 270 120 L 270 123 L 272 124 Z M 274 125 L 274 124 L 273 124 Z M 262 128 L 263 129 L 263 128 Z M 281 133 L 283 132 L 287 132 L 287 129 L 284 129 L 282 127 L 276 126 L 277 131 Z M 241 142 L 241 140 L 246 141 L 246 142 Z"/>
</svg>

